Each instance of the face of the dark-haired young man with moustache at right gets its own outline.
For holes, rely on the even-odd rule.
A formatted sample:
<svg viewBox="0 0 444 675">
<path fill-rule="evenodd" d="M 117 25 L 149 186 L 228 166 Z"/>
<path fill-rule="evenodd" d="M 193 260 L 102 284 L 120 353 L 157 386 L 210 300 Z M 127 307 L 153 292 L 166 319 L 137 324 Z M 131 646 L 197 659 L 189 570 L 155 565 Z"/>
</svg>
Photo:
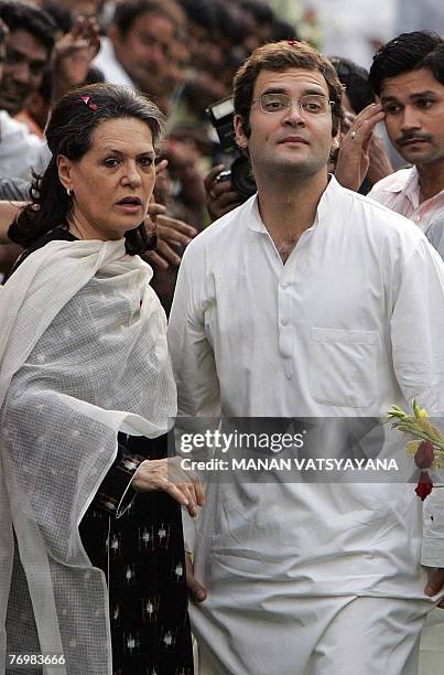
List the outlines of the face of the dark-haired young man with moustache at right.
<svg viewBox="0 0 444 675">
<path fill-rule="evenodd" d="M 388 77 L 381 87 L 387 133 L 403 159 L 426 165 L 444 160 L 444 85 L 427 68 Z"/>
</svg>

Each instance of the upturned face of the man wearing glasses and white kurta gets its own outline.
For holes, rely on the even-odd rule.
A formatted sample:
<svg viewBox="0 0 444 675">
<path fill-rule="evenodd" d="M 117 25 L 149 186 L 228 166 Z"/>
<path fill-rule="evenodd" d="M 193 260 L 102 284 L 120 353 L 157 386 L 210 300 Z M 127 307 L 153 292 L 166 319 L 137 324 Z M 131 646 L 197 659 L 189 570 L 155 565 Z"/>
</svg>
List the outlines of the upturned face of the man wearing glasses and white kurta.
<svg viewBox="0 0 444 675">
<path fill-rule="evenodd" d="M 249 151 L 255 172 L 308 176 L 327 171 L 327 162 L 334 143 L 332 113 L 328 105 L 328 87 L 317 71 L 289 68 L 274 73 L 261 71 L 255 84 L 253 101 L 262 94 L 286 94 L 290 107 L 281 111 L 264 113 L 259 103 L 252 103 L 250 111 L 251 135 L 247 139 L 239 117 L 236 132 L 239 144 Z M 320 97 L 326 111 L 303 111 L 301 97 Z"/>
</svg>

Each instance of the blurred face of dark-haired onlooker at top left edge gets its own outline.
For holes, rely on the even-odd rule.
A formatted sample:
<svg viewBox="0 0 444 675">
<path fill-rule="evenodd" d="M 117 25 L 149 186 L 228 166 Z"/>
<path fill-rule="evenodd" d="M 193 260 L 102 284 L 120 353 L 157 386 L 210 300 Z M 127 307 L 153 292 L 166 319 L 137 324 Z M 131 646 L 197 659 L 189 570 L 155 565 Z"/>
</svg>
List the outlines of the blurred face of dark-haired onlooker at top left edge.
<svg viewBox="0 0 444 675">
<path fill-rule="evenodd" d="M 22 29 L 7 39 L 3 76 L 0 83 L 0 109 L 17 115 L 26 98 L 39 89 L 48 60 L 46 47 Z"/>
</svg>

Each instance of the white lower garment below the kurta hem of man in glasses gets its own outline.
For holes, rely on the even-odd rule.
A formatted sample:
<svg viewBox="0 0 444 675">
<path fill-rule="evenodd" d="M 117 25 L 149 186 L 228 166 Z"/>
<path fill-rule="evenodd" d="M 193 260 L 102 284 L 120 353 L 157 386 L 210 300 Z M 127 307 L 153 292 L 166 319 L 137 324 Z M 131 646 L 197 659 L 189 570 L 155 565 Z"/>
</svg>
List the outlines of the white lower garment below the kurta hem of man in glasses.
<svg viewBox="0 0 444 675">
<path fill-rule="evenodd" d="M 219 581 L 225 583 L 226 569 Z M 231 590 L 234 590 L 231 588 Z M 299 597 L 290 594 L 279 604 L 242 607 L 245 582 L 237 579 L 236 611 L 232 597 L 220 592 L 224 604 L 214 607 L 212 597 L 194 612 L 195 621 L 212 614 L 212 639 L 199 647 L 199 675 L 418 675 L 418 639 L 430 603 L 392 598 Z M 261 621 L 267 612 L 267 651 Z M 224 641 L 224 614 L 229 617 L 234 651 L 221 665 L 218 645 Z M 220 623 L 219 623 L 219 621 Z M 236 651 L 238 635 L 251 649 L 247 656 Z M 393 635 L 396 640 L 393 641 Z M 401 639 L 402 635 L 402 639 Z M 282 669 L 282 661 L 290 669 Z M 224 655 L 226 656 L 226 654 Z"/>
</svg>

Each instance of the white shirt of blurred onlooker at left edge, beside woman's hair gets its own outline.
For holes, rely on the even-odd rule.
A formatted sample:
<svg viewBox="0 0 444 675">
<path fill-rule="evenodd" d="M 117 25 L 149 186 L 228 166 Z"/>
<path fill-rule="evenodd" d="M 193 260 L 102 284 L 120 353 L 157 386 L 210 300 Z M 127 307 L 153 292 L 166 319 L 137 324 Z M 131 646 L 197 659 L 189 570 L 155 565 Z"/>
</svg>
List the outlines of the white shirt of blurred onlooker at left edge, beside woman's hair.
<svg viewBox="0 0 444 675">
<path fill-rule="evenodd" d="M 32 170 L 43 173 L 51 159 L 45 140 L 31 133 L 26 125 L 0 110 L 0 178 L 32 179 Z"/>
</svg>

